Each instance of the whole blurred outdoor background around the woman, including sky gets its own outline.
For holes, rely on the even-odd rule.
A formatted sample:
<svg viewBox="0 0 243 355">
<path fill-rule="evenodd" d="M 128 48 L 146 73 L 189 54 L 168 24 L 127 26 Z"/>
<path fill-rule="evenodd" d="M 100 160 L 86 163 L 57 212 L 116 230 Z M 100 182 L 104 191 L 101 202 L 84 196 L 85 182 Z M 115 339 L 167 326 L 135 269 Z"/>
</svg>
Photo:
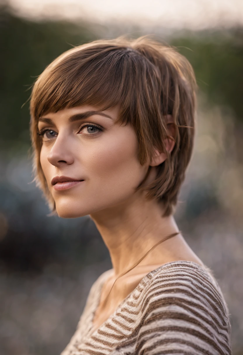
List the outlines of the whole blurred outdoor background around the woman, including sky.
<svg viewBox="0 0 243 355">
<path fill-rule="evenodd" d="M 92 283 L 111 268 L 87 218 L 48 217 L 31 183 L 30 87 L 74 45 L 153 34 L 194 67 L 193 159 L 175 218 L 221 286 L 243 354 L 243 2 L 0 1 L 0 354 L 59 355 Z"/>
</svg>

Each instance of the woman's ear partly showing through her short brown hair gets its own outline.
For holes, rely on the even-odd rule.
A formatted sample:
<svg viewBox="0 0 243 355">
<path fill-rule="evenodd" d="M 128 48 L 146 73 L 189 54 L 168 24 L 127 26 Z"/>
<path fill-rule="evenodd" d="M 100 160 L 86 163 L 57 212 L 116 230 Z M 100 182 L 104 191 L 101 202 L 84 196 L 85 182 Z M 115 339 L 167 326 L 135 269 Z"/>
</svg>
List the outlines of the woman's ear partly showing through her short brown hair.
<svg viewBox="0 0 243 355">
<path fill-rule="evenodd" d="M 172 120 L 172 115 L 164 116 L 167 126 L 167 138 L 164 140 L 166 151 L 171 153 L 175 146 L 175 124 Z M 167 159 L 167 154 L 159 152 L 158 149 L 155 149 L 150 165 L 157 166 L 164 162 Z"/>
</svg>

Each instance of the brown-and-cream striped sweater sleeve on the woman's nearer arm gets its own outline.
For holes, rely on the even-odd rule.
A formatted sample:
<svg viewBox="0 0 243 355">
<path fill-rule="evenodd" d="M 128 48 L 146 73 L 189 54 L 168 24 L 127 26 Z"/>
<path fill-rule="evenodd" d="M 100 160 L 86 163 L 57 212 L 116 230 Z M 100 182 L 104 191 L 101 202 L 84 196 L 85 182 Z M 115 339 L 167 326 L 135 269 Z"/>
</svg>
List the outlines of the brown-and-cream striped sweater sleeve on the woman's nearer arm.
<svg viewBox="0 0 243 355">
<path fill-rule="evenodd" d="M 137 355 L 228 355 L 231 326 L 220 287 L 201 270 L 158 275 L 148 289 Z"/>
</svg>

